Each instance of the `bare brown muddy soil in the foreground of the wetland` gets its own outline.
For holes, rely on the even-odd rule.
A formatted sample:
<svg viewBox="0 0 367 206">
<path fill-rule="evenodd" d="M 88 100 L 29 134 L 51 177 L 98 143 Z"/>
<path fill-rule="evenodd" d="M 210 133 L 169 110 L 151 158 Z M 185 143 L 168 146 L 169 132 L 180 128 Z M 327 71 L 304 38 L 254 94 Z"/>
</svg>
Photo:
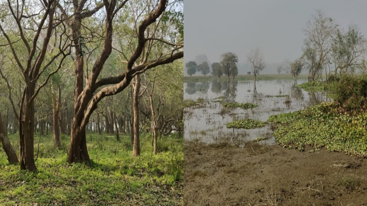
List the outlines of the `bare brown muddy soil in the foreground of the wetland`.
<svg viewBox="0 0 367 206">
<path fill-rule="evenodd" d="M 367 206 L 367 159 L 254 142 L 184 152 L 184 205 Z"/>
</svg>

